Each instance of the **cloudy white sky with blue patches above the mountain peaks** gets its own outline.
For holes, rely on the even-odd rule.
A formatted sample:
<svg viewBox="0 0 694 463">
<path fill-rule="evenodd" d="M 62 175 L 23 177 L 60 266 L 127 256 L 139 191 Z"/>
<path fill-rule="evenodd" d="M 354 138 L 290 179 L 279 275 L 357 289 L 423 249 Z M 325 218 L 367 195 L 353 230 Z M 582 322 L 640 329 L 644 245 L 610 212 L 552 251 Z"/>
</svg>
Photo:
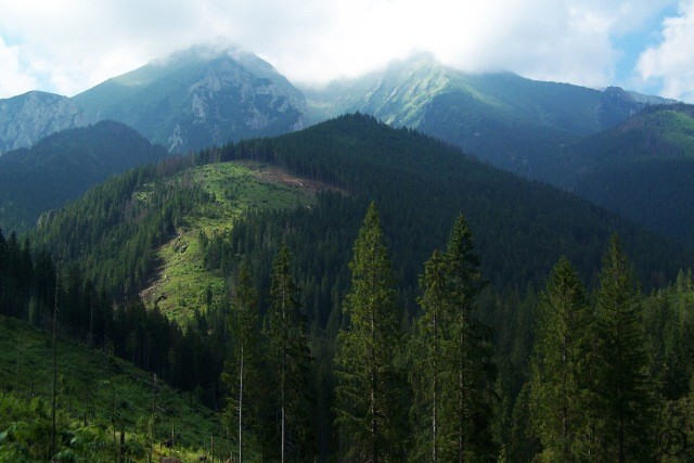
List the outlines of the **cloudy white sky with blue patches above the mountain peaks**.
<svg viewBox="0 0 694 463">
<path fill-rule="evenodd" d="M 72 97 L 206 42 L 300 83 L 430 52 L 471 73 L 694 103 L 694 0 L 0 0 L 0 98 Z"/>
</svg>

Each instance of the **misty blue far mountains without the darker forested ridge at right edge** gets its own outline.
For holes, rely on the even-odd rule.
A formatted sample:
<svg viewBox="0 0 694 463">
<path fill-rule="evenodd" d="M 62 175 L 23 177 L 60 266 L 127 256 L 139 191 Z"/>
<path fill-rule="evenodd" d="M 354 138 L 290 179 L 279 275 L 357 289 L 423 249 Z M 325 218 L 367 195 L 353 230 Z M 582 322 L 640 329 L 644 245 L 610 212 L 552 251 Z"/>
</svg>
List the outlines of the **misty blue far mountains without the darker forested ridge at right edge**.
<svg viewBox="0 0 694 463">
<path fill-rule="evenodd" d="M 647 105 L 672 103 L 617 87 L 600 91 L 512 73 L 465 74 L 428 54 L 299 90 L 252 53 L 198 46 L 69 99 L 29 92 L 0 100 L 0 153 L 103 119 L 121 121 L 169 151 L 184 152 L 361 112 L 517 171 L 537 156 L 528 151 L 613 127 Z M 502 150 L 510 146 L 501 140 L 509 139 L 518 143 L 511 152 Z"/>
</svg>

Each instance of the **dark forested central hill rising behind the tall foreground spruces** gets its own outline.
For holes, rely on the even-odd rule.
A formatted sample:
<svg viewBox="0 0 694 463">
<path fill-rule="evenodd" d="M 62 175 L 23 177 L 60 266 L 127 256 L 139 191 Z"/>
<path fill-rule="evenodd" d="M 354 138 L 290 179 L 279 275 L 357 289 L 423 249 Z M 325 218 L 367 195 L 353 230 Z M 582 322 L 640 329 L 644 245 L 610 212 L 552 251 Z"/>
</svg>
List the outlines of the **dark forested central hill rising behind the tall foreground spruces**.
<svg viewBox="0 0 694 463">
<path fill-rule="evenodd" d="M 274 139 L 208 150 L 200 158 L 204 163 L 218 158 L 259 160 L 349 194 L 324 192 L 310 207 L 278 210 L 262 206 L 271 203 L 267 193 L 256 190 L 260 195 L 253 202 L 259 208 L 227 219 L 222 214 L 215 220 L 233 227 L 216 228 L 203 236 L 200 223 L 209 223 L 223 210 L 223 202 L 239 201 L 234 200 L 240 193 L 234 180 L 228 182 L 228 193 L 206 187 L 219 175 L 215 172 L 226 168 L 213 167 L 207 175 L 205 170 L 189 171 L 184 165 L 174 170 L 140 168 L 92 190 L 47 220 L 31 241 L 67 261 L 87 263 L 87 275 L 101 287 L 132 294 L 172 275 L 172 271 L 157 272 L 155 263 L 174 261 L 170 259 L 183 247 L 202 256 L 193 267 L 221 279 L 228 279 L 246 256 L 262 286 L 269 274 L 265 266 L 271 262 L 279 243 L 287 240 L 300 271 L 304 303 L 322 324 L 347 290 L 347 243 L 354 241 L 371 200 L 382 211 L 407 299 L 403 304 L 410 308 L 414 307 L 412 295 L 422 262 L 446 242 L 460 211 L 467 216 L 475 234 L 485 274 L 498 287 L 525 287 L 543 281 L 561 255 L 592 275 L 614 231 L 622 235 L 634 256 L 646 287 L 694 262 L 689 249 L 574 195 L 497 170 L 450 145 L 410 130 L 391 129 L 368 116 L 345 116 Z M 231 196 L 226 198 L 227 194 Z M 187 246 L 177 245 L 179 235 Z M 183 291 L 187 284 L 178 287 Z M 204 307 L 205 284 L 190 287 L 190 296 L 171 299 L 172 307 L 180 306 L 182 299 Z M 147 298 L 154 301 L 164 293 L 171 291 L 159 288 Z"/>
</svg>

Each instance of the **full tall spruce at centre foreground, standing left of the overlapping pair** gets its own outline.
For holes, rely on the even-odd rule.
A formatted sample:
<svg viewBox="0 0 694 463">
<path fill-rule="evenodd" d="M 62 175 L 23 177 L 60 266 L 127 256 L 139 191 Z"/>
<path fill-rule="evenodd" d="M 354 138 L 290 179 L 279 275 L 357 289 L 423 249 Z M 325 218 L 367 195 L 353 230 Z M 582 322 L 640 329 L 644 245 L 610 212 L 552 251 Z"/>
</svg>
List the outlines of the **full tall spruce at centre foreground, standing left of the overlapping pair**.
<svg viewBox="0 0 694 463">
<path fill-rule="evenodd" d="M 337 335 L 336 424 L 350 461 L 401 461 L 406 420 L 400 398 L 400 310 L 375 204 L 355 242 L 347 327 Z"/>
</svg>

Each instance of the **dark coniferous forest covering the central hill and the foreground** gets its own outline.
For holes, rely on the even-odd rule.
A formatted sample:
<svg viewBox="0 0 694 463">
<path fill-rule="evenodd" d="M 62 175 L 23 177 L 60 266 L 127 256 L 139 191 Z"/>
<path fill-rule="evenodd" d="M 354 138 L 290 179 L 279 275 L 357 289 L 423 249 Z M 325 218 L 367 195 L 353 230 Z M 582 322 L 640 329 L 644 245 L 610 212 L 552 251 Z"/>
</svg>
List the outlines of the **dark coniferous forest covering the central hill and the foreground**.
<svg viewBox="0 0 694 463">
<path fill-rule="evenodd" d="M 142 296 L 157 249 L 221 201 L 190 169 L 240 160 L 326 188 L 198 231 L 201 270 L 223 285 L 171 318 Z M 110 406 L 73 409 L 66 376 L 42 389 L 59 408 L 46 411 L 20 387 L 17 347 L 0 461 L 151 461 L 177 447 L 215 461 L 691 461 L 692 262 L 678 243 L 369 116 L 167 158 L 27 234 L 2 230 L 0 320 L 49 334 L 47 352 L 57 338 L 149 372 L 204 403 L 189 427 L 217 440 L 174 439 L 164 412 L 136 416 L 115 386 Z"/>
</svg>

